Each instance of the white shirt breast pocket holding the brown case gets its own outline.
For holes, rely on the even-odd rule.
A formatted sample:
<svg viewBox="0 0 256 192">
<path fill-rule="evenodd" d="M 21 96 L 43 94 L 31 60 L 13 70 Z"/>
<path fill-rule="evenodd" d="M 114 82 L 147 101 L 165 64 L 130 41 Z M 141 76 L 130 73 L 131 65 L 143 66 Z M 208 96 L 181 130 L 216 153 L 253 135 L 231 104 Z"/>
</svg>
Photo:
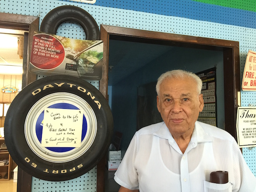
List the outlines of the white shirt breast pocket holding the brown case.
<svg viewBox="0 0 256 192">
<path fill-rule="evenodd" d="M 204 181 L 204 192 L 232 192 L 232 184 L 230 182 L 219 184 Z"/>
</svg>

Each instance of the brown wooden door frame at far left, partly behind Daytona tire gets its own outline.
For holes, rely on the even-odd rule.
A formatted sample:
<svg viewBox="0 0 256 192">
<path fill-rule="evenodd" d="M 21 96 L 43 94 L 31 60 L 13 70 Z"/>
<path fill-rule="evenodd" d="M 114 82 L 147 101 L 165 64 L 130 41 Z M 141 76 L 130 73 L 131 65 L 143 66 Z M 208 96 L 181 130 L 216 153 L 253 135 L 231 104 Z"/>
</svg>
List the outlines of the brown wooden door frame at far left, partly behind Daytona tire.
<svg viewBox="0 0 256 192">
<path fill-rule="evenodd" d="M 0 13 L 0 28 L 23 30 L 29 33 L 27 53 L 23 57 L 22 87 L 25 87 L 36 80 L 36 75 L 29 72 L 29 58 L 34 31 L 39 29 L 39 17 Z M 17 192 L 31 192 L 31 186 L 32 176 L 18 168 Z"/>
</svg>

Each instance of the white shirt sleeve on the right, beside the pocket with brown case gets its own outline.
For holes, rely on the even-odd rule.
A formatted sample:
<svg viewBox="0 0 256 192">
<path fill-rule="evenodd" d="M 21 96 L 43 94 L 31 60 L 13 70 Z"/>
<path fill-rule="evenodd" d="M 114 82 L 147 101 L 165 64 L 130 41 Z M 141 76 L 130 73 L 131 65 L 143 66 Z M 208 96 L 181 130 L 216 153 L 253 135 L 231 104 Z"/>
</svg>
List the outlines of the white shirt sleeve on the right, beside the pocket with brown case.
<svg viewBox="0 0 256 192">
<path fill-rule="evenodd" d="M 256 192 L 256 177 L 244 160 L 236 141 L 233 142 L 233 192 Z"/>
</svg>

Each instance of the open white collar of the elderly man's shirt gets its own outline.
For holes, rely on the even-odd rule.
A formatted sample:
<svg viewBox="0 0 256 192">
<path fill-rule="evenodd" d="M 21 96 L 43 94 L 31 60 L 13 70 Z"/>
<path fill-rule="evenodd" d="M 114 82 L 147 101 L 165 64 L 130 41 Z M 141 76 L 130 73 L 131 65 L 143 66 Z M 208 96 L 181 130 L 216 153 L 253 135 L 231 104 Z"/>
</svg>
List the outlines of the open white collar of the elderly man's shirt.
<svg viewBox="0 0 256 192">
<path fill-rule="evenodd" d="M 172 134 L 170 133 L 165 123 L 163 123 L 161 127 L 156 132 L 154 132 L 154 135 L 160 138 L 169 140 L 169 143 L 175 142 L 174 138 L 172 137 Z M 212 141 L 213 141 L 213 138 L 204 131 L 204 129 L 201 127 L 201 125 L 198 122 L 195 122 L 195 128 L 192 133 L 191 142 L 206 143 L 206 142 L 212 142 Z"/>
</svg>

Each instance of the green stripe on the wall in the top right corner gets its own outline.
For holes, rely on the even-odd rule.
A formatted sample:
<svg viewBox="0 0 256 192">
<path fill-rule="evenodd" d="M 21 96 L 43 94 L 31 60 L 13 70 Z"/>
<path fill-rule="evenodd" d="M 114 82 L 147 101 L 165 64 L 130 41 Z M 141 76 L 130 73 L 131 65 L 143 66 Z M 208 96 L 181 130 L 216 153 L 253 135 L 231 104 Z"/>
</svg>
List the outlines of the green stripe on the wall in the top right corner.
<svg viewBox="0 0 256 192">
<path fill-rule="evenodd" d="M 193 0 L 193 1 L 256 12 L 256 0 Z"/>
</svg>

